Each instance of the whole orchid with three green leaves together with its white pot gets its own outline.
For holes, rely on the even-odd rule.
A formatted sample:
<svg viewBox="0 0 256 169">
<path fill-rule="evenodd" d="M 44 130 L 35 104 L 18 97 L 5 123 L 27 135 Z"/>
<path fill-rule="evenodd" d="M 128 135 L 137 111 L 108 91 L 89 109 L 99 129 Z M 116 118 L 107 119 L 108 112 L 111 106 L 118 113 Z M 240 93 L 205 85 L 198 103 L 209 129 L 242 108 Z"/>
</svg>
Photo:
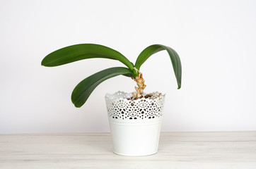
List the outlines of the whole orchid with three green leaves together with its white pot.
<svg viewBox="0 0 256 169">
<path fill-rule="evenodd" d="M 178 89 L 181 87 L 182 68 L 180 57 L 168 46 L 153 44 L 146 47 L 133 64 L 120 52 L 100 44 L 76 44 L 53 51 L 43 58 L 42 65 L 52 67 L 64 65 L 86 58 L 110 58 L 124 63 L 127 68 L 107 68 L 79 82 L 71 94 L 76 107 L 87 101 L 95 87 L 101 82 L 124 75 L 132 77 L 137 84 L 135 92 L 106 94 L 108 119 L 112 133 L 113 151 L 124 156 L 146 156 L 156 154 L 161 128 L 165 94 L 153 92 L 145 94 L 144 79 L 139 71 L 141 65 L 158 51 L 166 50 L 173 65 Z"/>
</svg>

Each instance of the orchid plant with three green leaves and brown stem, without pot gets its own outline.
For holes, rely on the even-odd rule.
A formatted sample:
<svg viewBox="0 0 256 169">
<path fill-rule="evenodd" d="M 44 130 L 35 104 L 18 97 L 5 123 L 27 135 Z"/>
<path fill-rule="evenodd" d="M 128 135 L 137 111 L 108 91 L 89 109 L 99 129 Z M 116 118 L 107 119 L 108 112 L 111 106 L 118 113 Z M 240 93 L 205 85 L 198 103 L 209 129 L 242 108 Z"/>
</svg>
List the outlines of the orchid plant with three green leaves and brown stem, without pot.
<svg viewBox="0 0 256 169">
<path fill-rule="evenodd" d="M 88 97 L 91 95 L 95 87 L 98 86 L 98 84 L 117 75 L 132 77 L 132 80 L 136 82 L 136 92 L 132 93 L 132 99 L 140 99 L 143 97 L 146 85 L 144 84 L 145 81 L 139 69 L 141 68 L 141 65 L 149 58 L 149 56 L 163 50 L 166 50 L 170 56 L 170 61 L 173 65 L 173 70 L 178 83 L 178 89 L 180 89 L 182 76 L 180 57 L 175 50 L 161 44 L 153 44 L 146 47 L 146 49 L 141 51 L 141 54 L 139 54 L 135 64 L 130 62 L 124 55 L 120 54 L 120 52 L 100 44 L 75 44 L 72 46 L 66 46 L 45 56 L 41 64 L 47 67 L 53 67 L 74 61 L 80 61 L 86 58 L 110 58 L 120 61 L 127 66 L 127 68 L 107 68 L 86 77 L 86 79 L 79 82 L 71 94 L 71 100 L 74 106 L 81 107 L 86 103 Z"/>
</svg>

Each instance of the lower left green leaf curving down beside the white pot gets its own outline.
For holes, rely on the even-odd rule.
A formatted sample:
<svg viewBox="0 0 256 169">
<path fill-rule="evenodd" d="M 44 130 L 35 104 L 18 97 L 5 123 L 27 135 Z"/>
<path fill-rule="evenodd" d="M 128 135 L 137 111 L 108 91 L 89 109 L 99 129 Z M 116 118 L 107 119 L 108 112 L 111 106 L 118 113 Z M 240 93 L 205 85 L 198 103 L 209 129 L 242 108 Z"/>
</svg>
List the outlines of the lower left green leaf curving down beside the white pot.
<svg viewBox="0 0 256 169">
<path fill-rule="evenodd" d="M 72 92 L 71 100 L 73 104 L 76 107 L 83 106 L 83 104 L 86 103 L 88 97 L 91 95 L 95 87 L 98 86 L 98 84 L 117 75 L 125 75 L 131 77 L 132 71 L 128 68 L 115 67 L 102 70 L 87 77 L 86 79 L 79 82 Z"/>
</svg>

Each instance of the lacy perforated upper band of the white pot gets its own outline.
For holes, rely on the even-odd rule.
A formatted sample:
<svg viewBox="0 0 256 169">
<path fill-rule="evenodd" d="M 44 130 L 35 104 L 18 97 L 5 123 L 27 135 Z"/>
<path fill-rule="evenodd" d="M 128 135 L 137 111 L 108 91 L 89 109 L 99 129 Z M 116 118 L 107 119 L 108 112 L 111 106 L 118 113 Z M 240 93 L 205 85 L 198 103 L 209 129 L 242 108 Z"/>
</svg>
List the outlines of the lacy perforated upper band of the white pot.
<svg viewBox="0 0 256 169">
<path fill-rule="evenodd" d="M 149 120 L 161 118 L 165 94 L 153 92 L 153 98 L 131 100 L 132 93 L 106 94 L 109 118 L 118 120 Z M 160 96 L 158 96 L 160 94 Z M 146 95 L 146 94 L 144 94 Z"/>
</svg>

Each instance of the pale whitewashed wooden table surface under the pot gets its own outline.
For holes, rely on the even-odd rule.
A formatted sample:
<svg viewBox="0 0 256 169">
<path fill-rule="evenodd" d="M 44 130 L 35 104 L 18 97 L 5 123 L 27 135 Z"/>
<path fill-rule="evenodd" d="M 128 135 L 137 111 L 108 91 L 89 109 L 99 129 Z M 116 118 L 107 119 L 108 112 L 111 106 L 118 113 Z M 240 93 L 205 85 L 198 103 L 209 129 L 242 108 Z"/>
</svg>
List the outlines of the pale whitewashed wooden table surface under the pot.
<svg viewBox="0 0 256 169">
<path fill-rule="evenodd" d="M 253 168 L 256 132 L 163 132 L 158 154 L 112 153 L 110 133 L 0 134 L 0 169 Z"/>
</svg>

